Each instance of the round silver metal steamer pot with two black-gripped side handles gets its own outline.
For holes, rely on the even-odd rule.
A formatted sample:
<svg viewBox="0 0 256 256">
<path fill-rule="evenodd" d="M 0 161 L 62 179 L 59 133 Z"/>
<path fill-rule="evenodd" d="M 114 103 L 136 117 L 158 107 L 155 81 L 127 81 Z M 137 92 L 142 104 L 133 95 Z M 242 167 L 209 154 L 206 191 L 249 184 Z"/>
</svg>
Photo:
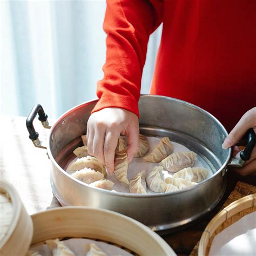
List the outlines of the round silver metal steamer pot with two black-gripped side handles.
<svg viewBox="0 0 256 256">
<path fill-rule="evenodd" d="M 213 174 L 200 184 L 179 192 L 129 194 L 90 187 L 65 172 L 72 153 L 82 146 L 80 136 L 86 134 L 86 124 L 97 100 L 83 103 L 64 113 L 51 127 L 47 141 L 51 161 L 52 191 L 63 206 L 78 205 L 104 208 L 122 213 L 155 231 L 181 227 L 211 211 L 223 197 L 228 165 L 242 166 L 254 147 L 254 132 L 248 132 L 246 149 L 240 159 L 231 158 L 231 149 L 221 144 L 227 136 L 224 126 L 210 113 L 182 100 L 142 95 L 139 100 L 140 133 L 168 136 L 171 141 L 185 145 L 198 154 L 198 159 Z M 33 128 L 33 119 L 50 128 L 42 106 L 33 107 L 26 125 L 29 138 L 37 147 L 45 147 Z M 46 148 L 45 147 L 45 148 Z"/>
</svg>

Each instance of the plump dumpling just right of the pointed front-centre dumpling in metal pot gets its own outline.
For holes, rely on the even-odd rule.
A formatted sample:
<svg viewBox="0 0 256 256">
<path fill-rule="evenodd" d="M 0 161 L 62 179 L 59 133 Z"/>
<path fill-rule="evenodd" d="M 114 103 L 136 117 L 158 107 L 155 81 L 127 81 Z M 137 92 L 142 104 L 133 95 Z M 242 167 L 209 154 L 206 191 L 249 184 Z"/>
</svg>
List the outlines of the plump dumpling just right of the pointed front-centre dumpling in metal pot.
<svg viewBox="0 0 256 256">
<path fill-rule="evenodd" d="M 154 169 L 149 174 L 147 174 L 146 182 L 150 190 L 154 192 L 165 192 L 167 184 L 161 178 L 160 173 L 162 171 L 163 171 L 163 167 L 155 166 Z"/>
</svg>

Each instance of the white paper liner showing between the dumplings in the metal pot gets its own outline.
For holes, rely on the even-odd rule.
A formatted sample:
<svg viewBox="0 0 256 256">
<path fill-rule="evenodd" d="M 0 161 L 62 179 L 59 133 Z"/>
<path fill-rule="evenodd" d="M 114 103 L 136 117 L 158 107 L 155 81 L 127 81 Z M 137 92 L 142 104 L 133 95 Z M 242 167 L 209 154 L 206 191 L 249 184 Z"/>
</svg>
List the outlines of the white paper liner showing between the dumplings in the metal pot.
<svg viewBox="0 0 256 256">
<path fill-rule="evenodd" d="M 148 154 L 150 154 L 153 149 L 157 146 L 157 144 L 160 142 L 160 137 L 147 137 L 147 139 L 149 140 L 149 144 L 150 144 L 150 150 L 149 152 L 147 152 L 147 154 L 145 156 L 147 156 Z M 171 142 L 173 145 L 173 153 L 176 152 L 181 152 L 181 151 L 190 151 L 187 147 L 185 147 L 184 145 L 181 145 L 179 143 L 176 142 Z M 145 157 L 144 156 L 144 157 Z M 136 176 L 137 173 L 141 172 L 142 170 L 146 171 L 146 175 L 147 173 L 149 173 L 150 171 L 152 171 L 154 166 L 159 166 L 158 163 L 150 163 L 145 161 L 143 158 L 144 157 L 134 157 L 132 163 L 129 165 L 128 167 L 128 171 L 127 171 L 127 178 L 130 181 L 131 179 L 133 179 L 134 176 Z M 77 158 L 75 158 L 73 161 L 76 161 Z M 73 162 L 72 161 L 72 162 Z M 71 163 L 72 163 L 71 162 Z M 70 163 L 70 164 L 71 164 Z M 70 165 L 69 164 L 69 165 Z M 198 160 L 198 158 L 195 160 L 193 167 L 204 167 L 203 164 Z M 69 170 L 69 166 L 67 168 L 67 170 Z M 212 175 L 212 171 L 210 169 L 208 169 L 210 171 L 210 176 Z M 72 174 L 75 171 L 67 171 L 69 174 Z M 167 177 L 172 177 L 172 175 L 175 172 L 171 173 L 168 172 L 166 170 L 163 170 L 162 172 L 162 176 L 163 178 L 167 178 Z M 107 174 L 106 179 L 113 181 L 114 186 L 113 186 L 113 190 L 117 191 L 117 192 L 126 192 L 126 193 L 130 193 L 129 192 L 129 185 L 126 185 L 125 183 L 119 181 L 116 176 L 114 174 L 110 175 Z M 153 192 L 151 191 L 148 187 L 147 187 L 147 193 L 148 194 L 154 194 L 157 192 Z"/>
</svg>

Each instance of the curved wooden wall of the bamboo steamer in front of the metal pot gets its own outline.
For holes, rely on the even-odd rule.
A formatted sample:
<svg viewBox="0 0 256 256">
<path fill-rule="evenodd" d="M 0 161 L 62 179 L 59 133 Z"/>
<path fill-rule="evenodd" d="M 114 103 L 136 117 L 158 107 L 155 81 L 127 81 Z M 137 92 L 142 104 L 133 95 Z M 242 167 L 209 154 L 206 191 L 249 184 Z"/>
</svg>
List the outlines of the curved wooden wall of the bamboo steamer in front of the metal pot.
<svg viewBox="0 0 256 256">
<path fill-rule="evenodd" d="M 176 255 L 150 228 L 108 210 L 71 206 L 33 214 L 31 245 L 55 238 L 103 240 L 139 255 Z"/>
</svg>

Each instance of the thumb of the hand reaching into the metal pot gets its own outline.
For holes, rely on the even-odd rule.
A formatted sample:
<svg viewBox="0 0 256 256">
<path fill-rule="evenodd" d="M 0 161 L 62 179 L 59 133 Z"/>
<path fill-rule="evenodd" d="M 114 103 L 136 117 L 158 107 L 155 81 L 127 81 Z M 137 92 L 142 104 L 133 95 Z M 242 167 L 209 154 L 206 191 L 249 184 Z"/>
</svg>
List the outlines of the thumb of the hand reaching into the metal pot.
<svg viewBox="0 0 256 256">
<path fill-rule="evenodd" d="M 139 129 L 129 126 L 128 130 L 125 131 L 127 137 L 127 155 L 128 161 L 131 163 L 134 154 L 139 150 Z"/>
</svg>

